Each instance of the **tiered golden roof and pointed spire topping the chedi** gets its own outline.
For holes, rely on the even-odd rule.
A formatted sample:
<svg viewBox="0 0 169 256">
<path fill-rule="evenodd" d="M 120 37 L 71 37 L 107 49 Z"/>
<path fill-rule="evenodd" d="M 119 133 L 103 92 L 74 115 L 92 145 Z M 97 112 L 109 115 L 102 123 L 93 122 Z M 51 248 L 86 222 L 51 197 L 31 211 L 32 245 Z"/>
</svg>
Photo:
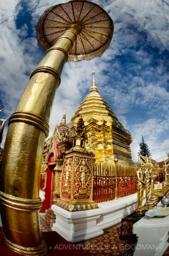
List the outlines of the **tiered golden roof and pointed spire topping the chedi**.
<svg viewBox="0 0 169 256">
<path fill-rule="evenodd" d="M 107 101 L 99 93 L 98 87 L 95 82 L 95 72 L 92 72 L 93 80 L 90 87 L 88 95 L 81 102 L 78 110 L 75 112 L 73 118 L 71 118 L 70 126 L 74 126 L 74 123 L 77 123 L 77 120 L 82 116 L 85 125 L 89 120 L 95 120 L 96 123 L 102 124 L 106 123 L 108 126 L 113 125 L 117 129 L 122 130 L 123 132 L 130 134 L 129 131 L 125 129 L 122 123 L 120 123 L 117 117 L 114 115 L 113 111 L 110 109 Z"/>
</svg>

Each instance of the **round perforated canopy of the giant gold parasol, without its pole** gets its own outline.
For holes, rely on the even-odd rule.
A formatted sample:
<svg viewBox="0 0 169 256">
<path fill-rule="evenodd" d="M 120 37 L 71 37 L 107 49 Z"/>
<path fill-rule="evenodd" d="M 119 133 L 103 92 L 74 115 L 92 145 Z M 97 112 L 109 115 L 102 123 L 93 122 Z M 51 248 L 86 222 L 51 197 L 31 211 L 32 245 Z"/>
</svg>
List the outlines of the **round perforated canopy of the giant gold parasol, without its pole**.
<svg viewBox="0 0 169 256">
<path fill-rule="evenodd" d="M 70 25 L 81 27 L 68 60 L 90 60 L 108 48 L 113 35 L 113 21 L 100 6 L 89 1 L 70 1 L 47 9 L 36 26 L 38 46 L 44 50 L 53 46 Z"/>
</svg>

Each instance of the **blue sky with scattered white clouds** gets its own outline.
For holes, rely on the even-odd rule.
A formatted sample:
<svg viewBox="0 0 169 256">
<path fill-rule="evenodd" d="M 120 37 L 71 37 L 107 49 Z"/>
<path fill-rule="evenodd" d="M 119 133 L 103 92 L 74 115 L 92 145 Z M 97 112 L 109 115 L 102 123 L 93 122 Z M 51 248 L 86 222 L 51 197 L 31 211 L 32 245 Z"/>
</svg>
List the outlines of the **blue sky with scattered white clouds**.
<svg viewBox="0 0 169 256">
<path fill-rule="evenodd" d="M 1 0 L 0 108 L 12 114 L 29 76 L 43 57 L 35 26 L 46 8 L 68 1 Z M 101 95 L 131 132 L 133 160 L 141 135 L 152 158 L 162 161 L 169 151 L 168 24 L 169 5 L 162 0 L 94 0 L 114 22 L 109 48 L 91 61 L 66 63 L 50 120 L 50 136 L 64 108 L 67 122 L 89 92 L 92 69 Z M 7 127 L 5 133 L 7 131 Z"/>
</svg>

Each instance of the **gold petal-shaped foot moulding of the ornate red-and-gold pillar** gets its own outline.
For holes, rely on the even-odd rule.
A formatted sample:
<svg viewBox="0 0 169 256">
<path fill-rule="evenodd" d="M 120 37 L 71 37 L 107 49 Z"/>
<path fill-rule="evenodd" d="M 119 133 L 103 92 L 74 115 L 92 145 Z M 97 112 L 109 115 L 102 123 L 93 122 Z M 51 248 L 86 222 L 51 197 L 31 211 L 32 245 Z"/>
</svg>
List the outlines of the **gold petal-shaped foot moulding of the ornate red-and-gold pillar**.
<svg viewBox="0 0 169 256">
<path fill-rule="evenodd" d="M 91 202 L 66 202 L 60 198 L 57 199 L 56 205 L 67 211 L 80 211 L 91 210 L 99 208 L 98 204 L 94 201 Z"/>
</svg>

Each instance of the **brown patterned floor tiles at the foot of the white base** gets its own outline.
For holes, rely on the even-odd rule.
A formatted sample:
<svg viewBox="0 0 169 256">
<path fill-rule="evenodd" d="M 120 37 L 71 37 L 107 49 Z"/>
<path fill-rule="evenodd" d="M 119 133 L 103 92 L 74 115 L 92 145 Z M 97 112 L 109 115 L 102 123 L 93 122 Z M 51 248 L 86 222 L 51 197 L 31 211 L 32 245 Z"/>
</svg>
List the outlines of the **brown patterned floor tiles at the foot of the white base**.
<svg viewBox="0 0 169 256">
<path fill-rule="evenodd" d="M 133 253 L 133 248 L 135 248 L 135 243 L 136 243 L 136 237 L 132 236 L 132 223 L 124 222 L 124 227 L 123 227 L 123 236 L 129 236 L 128 238 L 126 237 L 125 239 L 119 239 L 120 235 L 120 229 L 121 229 L 121 223 L 118 223 L 115 226 L 112 226 L 110 228 L 107 228 L 104 230 L 104 234 L 102 234 L 99 237 L 86 240 L 83 242 L 79 243 L 74 243 L 71 244 L 71 246 L 74 246 L 74 248 L 78 248 L 81 251 L 85 252 L 87 255 L 90 256 L 131 256 Z M 41 220 L 41 228 L 42 231 L 49 231 L 49 227 L 45 225 L 45 222 Z M 46 230 L 45 230 L 46 229 Z M 59 246 L 56 246 L 58 249 Z M 73 251 L 70 249 L 67 250 L 67 254 L 69 256 L 74 255 L 72 254 Z M 67 247 L 68 249 L 68 247 Z M 61 255 L 61 251 L 57 250 L 56 254 L 49 254 L 48 255 Z M 85 254 L 85 255 L 86 255 Z M 163 254 L 163 256 L 168 256 L 169 255 L 169 248 L 168 250 Z"/>
</svg>

